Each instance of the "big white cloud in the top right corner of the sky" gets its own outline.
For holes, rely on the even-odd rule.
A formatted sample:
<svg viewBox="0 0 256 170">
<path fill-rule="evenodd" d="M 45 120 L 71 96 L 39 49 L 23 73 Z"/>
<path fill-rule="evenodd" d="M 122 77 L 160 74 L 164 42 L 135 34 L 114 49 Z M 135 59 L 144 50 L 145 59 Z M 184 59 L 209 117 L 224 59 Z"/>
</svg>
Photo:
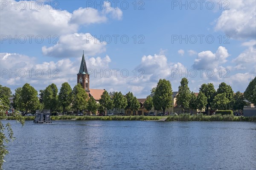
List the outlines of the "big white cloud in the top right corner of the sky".
<svg viewBox="0 0 256 170">
<path fill-rule="evenodd" d="M 230 10 L 224 10 L 218 18 L 215 30 L 236 39 L 255 38 L 256 2 L 253 0 L 229 1 Z"/>
</svg>

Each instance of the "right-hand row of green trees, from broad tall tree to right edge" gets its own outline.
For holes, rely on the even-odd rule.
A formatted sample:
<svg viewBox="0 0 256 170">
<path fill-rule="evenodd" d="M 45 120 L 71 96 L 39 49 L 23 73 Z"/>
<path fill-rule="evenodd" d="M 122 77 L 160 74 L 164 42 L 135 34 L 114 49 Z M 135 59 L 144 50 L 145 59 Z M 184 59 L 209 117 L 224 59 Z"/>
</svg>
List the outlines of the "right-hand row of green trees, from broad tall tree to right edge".
<svg viewBox="0 0 256 170">
<path fill-rule="evenodd" d="M 199 109 L 200 112 L 206 108 L 208 110 L 214 109 L 233 109 L 242 110 L 246 105 L 245 99 L 251 103 L 256 103 L 256 78 L 254 78 L 248 85 L 244 94 L 237 91 L 234 94 L 230 85 L 221 82 L 217 91 L 212 83 L 202 84 L 198 95 L 190 91 L 186 78 L 181 79 L 180 86 L 178 87 L 178 94 L 176 96 L 176 103 L 183 111 L 189 109 Z M 163 111 L 166 108 L 172 107 L 172 85 L 166 79 L 160 79 L 157 87 L 151 90 L 151 95 L 147 96 L 144 107 L 149 111 L 153 107 L 155 110 Z"/>
</svg>

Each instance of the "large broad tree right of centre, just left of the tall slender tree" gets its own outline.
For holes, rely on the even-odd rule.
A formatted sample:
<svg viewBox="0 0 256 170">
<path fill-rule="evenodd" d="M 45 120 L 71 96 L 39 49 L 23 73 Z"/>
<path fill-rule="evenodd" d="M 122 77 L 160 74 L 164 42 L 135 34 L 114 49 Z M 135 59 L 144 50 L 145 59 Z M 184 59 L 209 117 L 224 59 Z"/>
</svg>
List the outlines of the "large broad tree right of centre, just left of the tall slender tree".
<svg viewBox="0 0 256 170">
<path fill-rule="evenodd" d="M 172 85 L 169 80 L 160 79 L 157 83 L 156 91 L 153 96 L 153 105 L 161 107 L 163 113 L 165 113 L 166 108 L 172 107 Z"/>
</svg>

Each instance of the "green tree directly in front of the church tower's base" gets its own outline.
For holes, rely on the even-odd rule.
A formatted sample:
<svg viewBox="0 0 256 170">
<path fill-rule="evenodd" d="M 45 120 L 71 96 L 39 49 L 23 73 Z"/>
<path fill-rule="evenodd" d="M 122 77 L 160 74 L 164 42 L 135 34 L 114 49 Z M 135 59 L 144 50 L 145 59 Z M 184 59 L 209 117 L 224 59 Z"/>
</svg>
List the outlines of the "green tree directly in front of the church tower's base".
<svg viewBox="0 0 256 170">
<path fill-rule="evenodd" d="M 75 85 L 72 91 L 72 107 L 79 111 L 84 110 L 87 107 L 88 95 L 81 84 Z"/>
</svg>

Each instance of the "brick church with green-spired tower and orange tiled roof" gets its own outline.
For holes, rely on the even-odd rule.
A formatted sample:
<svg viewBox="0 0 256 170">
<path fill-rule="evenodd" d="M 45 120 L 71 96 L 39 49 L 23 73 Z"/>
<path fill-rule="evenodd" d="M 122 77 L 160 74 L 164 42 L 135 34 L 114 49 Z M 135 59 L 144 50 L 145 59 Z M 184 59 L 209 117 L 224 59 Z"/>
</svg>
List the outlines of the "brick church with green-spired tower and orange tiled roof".
<svg viewBox="0 0 256 170">
<path fill-rule="evenodd" d="M 79 73 L 77 74 L 77 83 L 81 84 L 89 97 L 93 96 L 97 103 L 99 103 L 99 99 L 105 89 L 92 89 L 90 88 L 90 75 L 87 71 L 86 62 L 84 59 L 84 54 L 81 60 L 81 65 L 79 69 Z"/>
</svg>

